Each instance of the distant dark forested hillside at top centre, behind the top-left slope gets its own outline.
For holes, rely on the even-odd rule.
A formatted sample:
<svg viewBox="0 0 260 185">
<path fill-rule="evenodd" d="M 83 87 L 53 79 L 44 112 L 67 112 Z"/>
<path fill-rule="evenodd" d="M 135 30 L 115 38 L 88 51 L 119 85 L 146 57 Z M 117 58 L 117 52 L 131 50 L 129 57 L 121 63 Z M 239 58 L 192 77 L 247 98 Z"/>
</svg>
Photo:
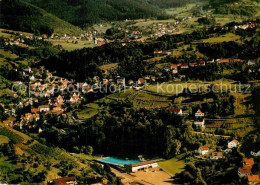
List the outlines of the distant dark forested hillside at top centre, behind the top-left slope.
<svg viewBox="0 0 260 185">
<path fill-rule="evenodd" d="M 77 26 L 101 21 L 157 17 L 161 10 L 144 0 L 27 0 Z"/>
</svg>

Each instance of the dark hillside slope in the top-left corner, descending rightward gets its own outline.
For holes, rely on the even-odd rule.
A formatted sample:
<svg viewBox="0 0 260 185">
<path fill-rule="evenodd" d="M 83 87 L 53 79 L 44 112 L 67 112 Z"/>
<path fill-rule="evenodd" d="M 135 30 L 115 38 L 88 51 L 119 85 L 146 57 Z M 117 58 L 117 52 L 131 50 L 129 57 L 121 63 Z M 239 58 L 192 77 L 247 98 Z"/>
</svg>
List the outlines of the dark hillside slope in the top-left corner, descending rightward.
<svg viewBox="0 0 260 185">
<path fill-rule="evenodd" d="M 35 34 L 80 33 L 82 31 L 43 9 L 21 0 L 0 1 L 0 13 L 2 28 Z"/>
</svg>

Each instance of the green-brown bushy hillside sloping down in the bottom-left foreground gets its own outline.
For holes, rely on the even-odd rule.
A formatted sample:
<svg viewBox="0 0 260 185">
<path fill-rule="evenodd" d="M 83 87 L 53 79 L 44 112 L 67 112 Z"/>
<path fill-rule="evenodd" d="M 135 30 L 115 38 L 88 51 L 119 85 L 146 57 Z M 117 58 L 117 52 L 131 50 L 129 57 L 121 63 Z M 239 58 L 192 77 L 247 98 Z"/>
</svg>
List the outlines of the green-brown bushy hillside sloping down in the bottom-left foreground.
<svg viewBox="0 0 260 185">
<path fill-rule="evenodd" d="M 65 150 L 49 147 L 0 123 L 0 181 L 22 184 L 47 184 L 58 177 L 76 176 L 80 184 L 92 184 L 107 179 L 99 167 L 82 161 Z M 104 171 L 104 170 L 103 170 Z M 112 175 L 112 179 L 116 177 Z M 110 183 L 115 182 L 108 180 Z"/>
</svg>

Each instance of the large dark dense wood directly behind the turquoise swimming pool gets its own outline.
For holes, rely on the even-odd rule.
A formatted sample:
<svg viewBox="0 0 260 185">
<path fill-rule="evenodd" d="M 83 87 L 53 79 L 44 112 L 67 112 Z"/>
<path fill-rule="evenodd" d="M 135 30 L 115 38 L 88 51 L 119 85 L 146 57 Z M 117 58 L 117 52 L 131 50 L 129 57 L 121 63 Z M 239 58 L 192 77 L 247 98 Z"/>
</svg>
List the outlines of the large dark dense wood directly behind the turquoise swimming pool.
<svg viewBox="0 0 260 185">
<path fill-rule="evenodd" d="M 136 110 L 130 102 L 111 103 L 106 110 L 78 126 L 69 126 L 55 117 L 45 119 L 47 124 L 38 123 L 44 127 L 41 137 L 72 151 L 75 147 L 90 145 L 95 153 L 106 155 L 153 154 L 168 158 L 183 152 L 186 147 L 196 149 L 200 146 L 191 138 L 191 128 L 180 116 L 168 109 Z"/>
</svg>

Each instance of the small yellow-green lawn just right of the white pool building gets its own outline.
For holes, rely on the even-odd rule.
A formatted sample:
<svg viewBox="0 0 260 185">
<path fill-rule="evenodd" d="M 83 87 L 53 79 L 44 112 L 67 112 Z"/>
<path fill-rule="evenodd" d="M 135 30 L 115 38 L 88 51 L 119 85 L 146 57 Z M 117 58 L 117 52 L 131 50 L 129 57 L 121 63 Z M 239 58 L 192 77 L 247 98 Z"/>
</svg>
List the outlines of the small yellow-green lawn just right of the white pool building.
<svg viewBox="0 0 260 185">
<path fill-rule="evenodd" d="M 183 168 L 185 166 L 184 161 L 172 158 L 169 160 L 163 160 L 159 163 L 160 168 L 162 168 L 165 172 L 168 174 L 174 176 L 176 173 L 180 173 L 183 171 Z"/>
</svg>

